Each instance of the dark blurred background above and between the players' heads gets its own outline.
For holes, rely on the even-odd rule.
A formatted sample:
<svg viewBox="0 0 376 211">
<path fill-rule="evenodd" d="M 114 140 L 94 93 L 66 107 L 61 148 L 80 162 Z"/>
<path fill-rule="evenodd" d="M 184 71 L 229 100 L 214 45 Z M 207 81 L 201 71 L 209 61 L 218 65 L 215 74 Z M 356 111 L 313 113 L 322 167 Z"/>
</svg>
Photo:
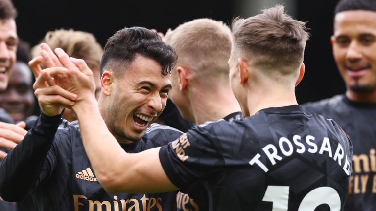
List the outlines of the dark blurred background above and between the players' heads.
<svg viewBox="0 0 376 211">
<path fill-rule="evenodd" d="M 330 36 L 338 0 L 13 0 L 19 37 L 38 44 L 47 31 L 59 28 L 88 31 L 104 46 L 123 27 L 143 26 L 165 33 L 196 18 L 230 23 L 260 9 L 284 4 L 288 14 L 306 21 L 310 40 L 305 48 L 305 78 L 298 86 L 298 103 L 316 101 L 345 91 L 335 66 Z"/>
</svg>

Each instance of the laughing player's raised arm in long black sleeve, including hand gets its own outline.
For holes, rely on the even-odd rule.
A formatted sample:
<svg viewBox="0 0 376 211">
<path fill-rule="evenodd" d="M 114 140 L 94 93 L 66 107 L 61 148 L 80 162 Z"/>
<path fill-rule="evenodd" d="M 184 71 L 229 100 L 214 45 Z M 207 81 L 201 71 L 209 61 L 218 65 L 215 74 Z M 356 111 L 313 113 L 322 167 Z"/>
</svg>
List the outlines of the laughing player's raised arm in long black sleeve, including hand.
<svg viewBox="0 0 376 211">
<path fill-rule="evenodd" d="M 47 64 L 48 66 L 54 65 Z M 43 180 L 53 169 L 54 157 L 47 159 L 47 153 L 61 122 L 63 105 L 74 105 L 74 96 L 56 85 L 51 75 L 64 74 L 65 71 L 62 67 L 41 70 L 34 84 L 42 114 L 25 135 L 24 140 L 8 154 L 0 167 L 0 195 L 7 201 L 22 200 L 36 182 Z M 10 128 L 9 125 L 3 127 Z M 7 138 L 17 139 L 18 136 L 11 134 Z M 42 175 L 42 170 L 47 174 Z"/>
</svg>

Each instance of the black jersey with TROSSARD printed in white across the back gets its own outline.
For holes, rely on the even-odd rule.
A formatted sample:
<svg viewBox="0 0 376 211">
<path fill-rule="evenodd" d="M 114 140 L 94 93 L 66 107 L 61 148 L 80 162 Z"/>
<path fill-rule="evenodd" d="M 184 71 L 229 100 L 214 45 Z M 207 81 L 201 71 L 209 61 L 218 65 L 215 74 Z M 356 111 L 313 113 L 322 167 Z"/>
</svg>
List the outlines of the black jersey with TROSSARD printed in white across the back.
<svg viewBox="0 0 376 211">
<path fill-rule="evenodd" d="M 178 188 L 205 184 L 211 211 L 342 211 L 352 145 L 333 120 L 291 105 L 196 126 L 159 156 Z"/>
</svg>

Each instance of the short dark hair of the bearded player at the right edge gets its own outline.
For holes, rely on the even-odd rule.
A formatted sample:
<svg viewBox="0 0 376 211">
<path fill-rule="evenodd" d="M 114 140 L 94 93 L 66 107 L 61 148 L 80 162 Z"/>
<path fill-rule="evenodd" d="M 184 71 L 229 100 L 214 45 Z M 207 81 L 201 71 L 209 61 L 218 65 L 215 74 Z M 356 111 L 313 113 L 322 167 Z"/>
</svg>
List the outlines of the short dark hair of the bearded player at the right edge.
<svg viewBox="0 0 376 211">
<path fill-rule="evenodd" d="M 334 14 L 348 10 L 369 10 L 376 12 L 375 0 L 340 0 L 335 6 Z"/>
</svg>

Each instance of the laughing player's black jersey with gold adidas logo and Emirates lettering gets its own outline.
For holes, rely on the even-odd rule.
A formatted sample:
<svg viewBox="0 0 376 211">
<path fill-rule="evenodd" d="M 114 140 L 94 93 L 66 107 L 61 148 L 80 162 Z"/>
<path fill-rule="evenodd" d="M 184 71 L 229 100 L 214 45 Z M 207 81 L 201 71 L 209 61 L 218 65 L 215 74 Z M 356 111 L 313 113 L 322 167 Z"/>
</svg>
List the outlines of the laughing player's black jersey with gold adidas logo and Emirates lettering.
<svg viewBox="0 0 376 211">
<path fill-rule="evenodd" d="M 43 118 L 46 119 L 46 116 Z M 46 133 L 53 132 L 53 128 L 44 126 L 45 122 L 37 120 L 24 140 L 11 152 L 11 156 L 4 160 L 5 166 L 1 167 L 1 171 L 7 173 L 1 175 L 4 177 L 1 178 L 1 194 L 20 200 L 30 192 L 29 196 L 39 211 L 176 211 L 177 191 L 147 194 L 107 193 L 98 183 L 85 153 L 78 122 L 63 120 L 57 131 L 55 129 L 56 134 L 53 134 L 52 141 L 41 140 L 49 136 Z M 50 130 L 52 132 L 49 132 Z M 137 153 L 165 145 L 181 134 L 182 132 L 172 127 L 152 124 L 141 140 L 122 145 L 122 148 L 128 153 Z M 51 143 L 48 145 L 42 142 Z M 37 157 L 34 154 L 36 151 L 26 151 L 31 148 L 41 151 L 46 148 L 47 152 L 34 170 L 18 163 L 20 160 L 22 162 L 25 159 L 34 159 L 33 156 Z M 34 165 L 34 162 L 32 164 Z M 24 176 L 15 176 L 20 173 Z M 13 177 L 18 178 L 16 180 L 12 179 Z M 24 182 L 28 177 L 29 181 Z M 18 184 L 17 181 L 21 179 L 23 182 Z M 25 189 L 27 186 L 29 190 Z"/>
</svg>

